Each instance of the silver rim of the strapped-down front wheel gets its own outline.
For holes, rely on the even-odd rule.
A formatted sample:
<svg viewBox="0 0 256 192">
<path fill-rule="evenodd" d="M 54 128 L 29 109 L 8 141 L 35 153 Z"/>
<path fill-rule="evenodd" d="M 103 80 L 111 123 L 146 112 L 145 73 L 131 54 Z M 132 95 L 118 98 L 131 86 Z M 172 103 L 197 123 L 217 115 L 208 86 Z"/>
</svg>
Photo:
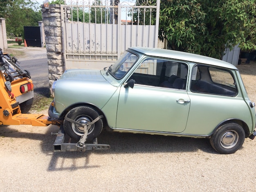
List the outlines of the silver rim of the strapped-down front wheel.
<svg viewBox="0 0 256 192">
<path fill-rule="evenodd" d="M 92 118 L 90 118 L 89 116 L 77 116 L 74 121 L 82 123 L 82 124 L 89 124 L 91 123 L 93 120 Z M 82 136 L 84 134 L 84 129 L 83 127 L 79 127 L 79 125 L 72 123 L 72 129 L 74 131 L 75 134 Z M 94 129 L 94 124 L 91 125 L 90 129 L 88 130 L 88 134 L 91 134 L 92 131 Z"/>
</svg>

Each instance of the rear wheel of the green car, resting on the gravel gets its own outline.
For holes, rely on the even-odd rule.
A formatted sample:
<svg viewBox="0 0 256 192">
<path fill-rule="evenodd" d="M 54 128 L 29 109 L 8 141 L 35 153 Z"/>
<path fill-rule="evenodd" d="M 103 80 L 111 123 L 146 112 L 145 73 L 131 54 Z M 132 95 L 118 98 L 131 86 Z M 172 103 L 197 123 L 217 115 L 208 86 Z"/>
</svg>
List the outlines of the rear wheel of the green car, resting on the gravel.
<svg viewBox="0 0 256 192">
<path fill-rule="evenodd" d="M 239 150 L 245 141 L 245 131 L 237 123 L 224 124 L 210 138 L 211 146 L 220 154 L 232 154 Z"/>
</svg>

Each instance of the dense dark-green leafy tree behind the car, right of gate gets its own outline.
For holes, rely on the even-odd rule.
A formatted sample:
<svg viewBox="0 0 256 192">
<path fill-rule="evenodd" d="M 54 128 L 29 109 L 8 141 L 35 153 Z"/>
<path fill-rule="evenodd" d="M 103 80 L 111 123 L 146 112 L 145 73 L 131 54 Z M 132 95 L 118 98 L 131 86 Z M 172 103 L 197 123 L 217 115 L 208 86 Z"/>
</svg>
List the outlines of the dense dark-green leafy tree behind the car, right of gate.
<svg viewBox="0 0 256 192">
<path fill-rule="evenodd" d="M 161 0 L 159 34 L 171 49 L 221 58 L 256 49 L 255 0 Z"/>
</svg>

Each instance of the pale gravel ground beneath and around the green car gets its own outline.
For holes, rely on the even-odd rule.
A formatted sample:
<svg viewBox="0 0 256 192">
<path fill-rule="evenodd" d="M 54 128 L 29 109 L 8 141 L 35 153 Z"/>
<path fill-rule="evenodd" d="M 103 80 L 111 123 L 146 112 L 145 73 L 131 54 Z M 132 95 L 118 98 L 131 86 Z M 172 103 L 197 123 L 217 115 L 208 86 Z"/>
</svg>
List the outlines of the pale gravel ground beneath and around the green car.
<svg viewBox="0 0 256 192">
<path fill-rule="evenodd" d="M 238 66 L 254 101 L 255 65 Z M 58 127 L 0 127 L 0 191 L 255 191 L 256 139 L 222 155 L 208 139 L 103 131 L 98 143 L 110 150 L 80 153 L 52 152 L 51 132 Z"/>
</svg>

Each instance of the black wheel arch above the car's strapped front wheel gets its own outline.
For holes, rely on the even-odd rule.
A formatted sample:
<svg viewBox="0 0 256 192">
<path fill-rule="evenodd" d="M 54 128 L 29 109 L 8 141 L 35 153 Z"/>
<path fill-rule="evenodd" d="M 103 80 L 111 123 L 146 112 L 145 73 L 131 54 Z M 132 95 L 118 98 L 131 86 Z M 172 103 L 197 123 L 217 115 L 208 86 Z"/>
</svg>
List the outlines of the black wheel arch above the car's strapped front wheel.
<svg viewBox="0 0 256 192">
<path fill-rule="evenodd" d="M 103 127 L 108 126 L 108 121 L 107 121 L 106 115 L 103 113 L 103 111 L 99 107 L 97 107 L 96 105 L 93 105 L 92 103 L 74 103 L 73 105 L 70 105 L 69 107 L 67 107 L 61 113 L 60 117 L 64 118 L 66 116 L 67 112 L 69 112 L 71 109 L 73 109 L 75 107 L 81 107 L 81 106 L 91 107 L 92 109 L 97 111 L 99 113 L 99 115 L 103 115 L 104 116 L 104 118 L 102 119 Z"/>
</svg>

